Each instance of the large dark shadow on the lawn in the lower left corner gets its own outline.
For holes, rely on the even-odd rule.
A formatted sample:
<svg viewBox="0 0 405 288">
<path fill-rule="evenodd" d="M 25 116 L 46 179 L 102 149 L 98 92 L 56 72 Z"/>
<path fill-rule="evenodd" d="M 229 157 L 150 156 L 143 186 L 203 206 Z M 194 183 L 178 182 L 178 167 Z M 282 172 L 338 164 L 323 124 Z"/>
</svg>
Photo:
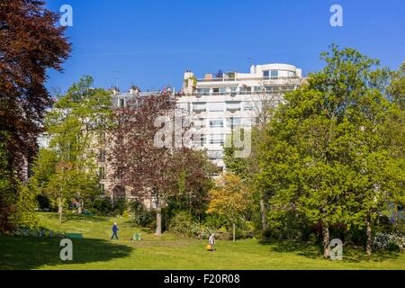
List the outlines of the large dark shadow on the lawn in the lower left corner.
<svg viewBox="0 0 405 288">
<path fill-rule="evenodd" d="M 102 239 L 72 239 L 73 261 L 61 261 L 60 238 L 23 238 L 0 236 L 0 269 L 31 270 L 41 266 L 57 266 L 107 262 L 128 257 L 133 248 L 112 244 Z"/>
</svg>

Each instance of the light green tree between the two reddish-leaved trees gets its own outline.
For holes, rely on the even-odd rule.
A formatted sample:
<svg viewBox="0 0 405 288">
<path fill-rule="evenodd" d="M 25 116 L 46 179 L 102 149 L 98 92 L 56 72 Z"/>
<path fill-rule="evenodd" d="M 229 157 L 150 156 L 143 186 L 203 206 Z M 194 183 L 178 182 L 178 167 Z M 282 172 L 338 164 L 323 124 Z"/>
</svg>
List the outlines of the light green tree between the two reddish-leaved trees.
<svg viewBox="0 0 405 288">
<path fill-rule="evenodd" d="M 63 205 L 75 199 L 82 211 L 86 198 L 99 193 L 97 153 L 99 135 L 111 127 L 111 94 L 92 87 L 84 76 L 60 97 L 46 118 L 49 147 L 40 150 L 32 181 L 58 202 L 59 220 Z"/>
</svg>

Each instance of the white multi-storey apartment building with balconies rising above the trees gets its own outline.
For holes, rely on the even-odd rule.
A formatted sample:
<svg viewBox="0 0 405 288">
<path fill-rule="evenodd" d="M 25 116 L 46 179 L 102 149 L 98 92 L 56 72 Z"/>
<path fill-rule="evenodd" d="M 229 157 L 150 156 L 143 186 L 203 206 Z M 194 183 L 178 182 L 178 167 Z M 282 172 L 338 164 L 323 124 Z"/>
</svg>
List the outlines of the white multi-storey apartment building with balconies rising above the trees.
<svg viewBox="0 0 405 288">
<path fill-rule="evenodd" d="M 224 144 L 232 130 L 255 125 L 261 110 L 283 102 L 284 93 L 301 84 L 302 69 L 288 64 L 256 65 L 249 73 L 206 74 L 201 79 L 187 71 L 178 106 L 202 129 L 194 146 L 207 149 L 221 170 Z"/>
</svg>

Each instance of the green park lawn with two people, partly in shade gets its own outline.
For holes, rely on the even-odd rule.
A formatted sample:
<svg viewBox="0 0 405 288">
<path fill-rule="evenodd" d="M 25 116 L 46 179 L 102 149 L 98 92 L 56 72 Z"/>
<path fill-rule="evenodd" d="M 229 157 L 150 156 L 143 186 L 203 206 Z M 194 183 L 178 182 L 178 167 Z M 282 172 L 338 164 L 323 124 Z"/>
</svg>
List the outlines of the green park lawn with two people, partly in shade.
<svg viewBox="0 0 405 288">
<path fill-rule="evenodd" d="M 83 233 L 74 239 L 72 262 L 59 259 L 60 239 L 0 237 L 0 269 L 405 269 L 405 253 L 374 254 L 344 249 L 343 261 L 324 260 L 320 247 L 293 242 L 263 243 L 257 239 L 218 241 L 217 251 L 204 250 L 206 241 L 178 238 L 165 233 L 157 238 L 134 227 L 130 219 L 67 216 L 58 224 L 58 215 L 40 213 L 47 229 Z M 120 240 L 110 240 L 114 221 Z M 143 241 L 130 242 L 134 232 Z"/>
</svg>

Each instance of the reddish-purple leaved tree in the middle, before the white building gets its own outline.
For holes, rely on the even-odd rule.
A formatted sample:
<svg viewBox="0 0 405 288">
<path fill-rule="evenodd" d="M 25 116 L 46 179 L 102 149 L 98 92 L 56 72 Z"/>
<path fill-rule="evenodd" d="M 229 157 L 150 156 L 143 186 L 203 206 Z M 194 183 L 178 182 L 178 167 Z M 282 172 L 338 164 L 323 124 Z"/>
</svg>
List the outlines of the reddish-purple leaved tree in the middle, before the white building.
<svg viewBox="0 0 405 288">
<path fill-rule="evenodd" d="M 117 186 L 125 187 L 139 202 L 152 199 L 156 204 L 157 229 L 162 233 L 162 208 L 169 199 L 185 196 L 190 206 L 202 203 L 209 190 L 211 163 L 201 152 L 174 145 L 175 133 L 183 139 L 187 128 L 171 130 L 173 145 L 160 148 L 156 136 L 164 125 L 159 116 L 175 120 L 175 98 L 169 94 L 135 97 L 126 108 L 114 112 L 109 160 Z M 184 116 L 180 121 L 184 121 Z M 178 119 L 177 119 L 178 120 Z M 167 124 L 167 123 L 166 123 Z"/>
</svg>

